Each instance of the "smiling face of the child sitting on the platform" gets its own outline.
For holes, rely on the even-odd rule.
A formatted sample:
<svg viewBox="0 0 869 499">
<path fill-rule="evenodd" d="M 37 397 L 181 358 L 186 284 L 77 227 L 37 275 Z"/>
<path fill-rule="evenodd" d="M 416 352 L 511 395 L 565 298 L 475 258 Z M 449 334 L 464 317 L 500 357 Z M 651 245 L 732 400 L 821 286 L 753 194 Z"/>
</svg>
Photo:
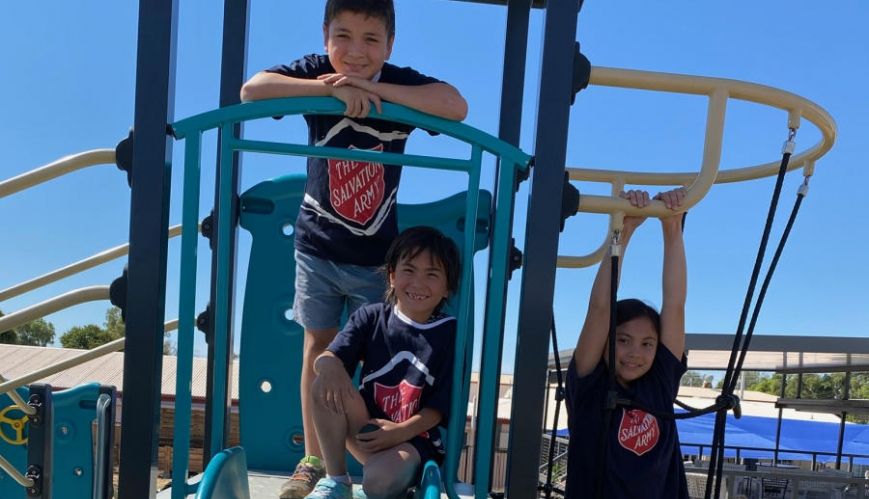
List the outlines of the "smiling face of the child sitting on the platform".
<svg viewBox="0 0 869 499">
<path fill-rule="evenodd" d="M 419 323 L 425 323 L 449 295 L 444 266 L 428 251 L 399 260 L 389 273 L 389 285 L 395 292 L 395 307 Z"/>
</svg>

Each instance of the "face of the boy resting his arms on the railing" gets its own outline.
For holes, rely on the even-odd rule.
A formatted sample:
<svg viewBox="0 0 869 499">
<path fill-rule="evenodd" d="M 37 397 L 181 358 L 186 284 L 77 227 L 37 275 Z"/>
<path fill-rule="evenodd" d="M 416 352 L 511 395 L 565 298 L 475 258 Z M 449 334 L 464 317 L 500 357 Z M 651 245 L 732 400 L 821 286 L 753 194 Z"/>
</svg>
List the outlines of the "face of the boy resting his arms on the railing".
<svg viewBox="0 0 869 499">
<path fill-rule="evenodd" d="M 342 11 L 323 26 L 323 40 L 335 71 L 370 80 L 392 53 L 386 23 L 374 16 Z"/>
</svg>

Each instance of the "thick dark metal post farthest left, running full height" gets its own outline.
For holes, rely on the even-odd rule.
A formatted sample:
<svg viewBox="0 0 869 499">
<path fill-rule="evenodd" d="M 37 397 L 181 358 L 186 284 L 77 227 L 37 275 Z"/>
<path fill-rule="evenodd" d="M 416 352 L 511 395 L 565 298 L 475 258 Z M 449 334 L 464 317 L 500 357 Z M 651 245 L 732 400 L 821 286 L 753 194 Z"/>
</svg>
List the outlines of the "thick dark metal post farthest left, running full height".
<svg viewBox="0 0 869 499">
<path fill-rule="evenodd" d="M 139 4 L 119 495 L 156 495 L 177 0 Z"/>
</svg>

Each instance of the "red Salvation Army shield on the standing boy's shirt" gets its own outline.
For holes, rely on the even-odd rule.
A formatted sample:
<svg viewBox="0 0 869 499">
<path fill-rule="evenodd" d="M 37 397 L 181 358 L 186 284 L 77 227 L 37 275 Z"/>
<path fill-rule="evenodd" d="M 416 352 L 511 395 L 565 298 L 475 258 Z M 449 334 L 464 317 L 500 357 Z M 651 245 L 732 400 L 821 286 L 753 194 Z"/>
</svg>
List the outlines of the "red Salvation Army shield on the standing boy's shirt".
<svg viewBox="0 0 869 499">
<path fill-rule="evenodd" d="M 382 151 L 383 144 L 370 150 Z M 349 159 L 329 159 L 328 163 L 329 199 L 335 213 L 360 225 L 368 223 L 383 203 L 383 163 Z"/>
</svg>

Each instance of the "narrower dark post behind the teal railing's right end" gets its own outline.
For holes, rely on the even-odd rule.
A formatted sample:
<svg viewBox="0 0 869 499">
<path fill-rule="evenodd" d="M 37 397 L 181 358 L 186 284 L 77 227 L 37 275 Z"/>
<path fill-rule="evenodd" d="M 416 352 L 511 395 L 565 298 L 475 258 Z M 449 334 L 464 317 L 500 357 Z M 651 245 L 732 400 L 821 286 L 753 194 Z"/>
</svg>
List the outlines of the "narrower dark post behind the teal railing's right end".
<svg viewBox="0 0 869 499">
<path fill-rule="evenodd" d="M 528 52 L 528 21 L 531 16 L 531 0 L 509 0 L 507 5 L 507 30 L 504 39 L 504 71 L 501 76 L 501 108 L 500 108 L 500 123 L 498 125 L 498 137 L 514 146 L 519 146 L 519 135 L 521 131 L 522 125 L 522 100 L 524 96 L 525 90 L 525 60 L 526 53 Z M 495 178 L 500 178 L 500 163 L 496 166 Z M 515 184 L 511 182 L 511 184 Z M 495 182 L 497 187 L 497 182 Z M 495 191 L 495 195 L 492 199 L 492 210 L 494 211 L 495 207 L 498 206 L 498 199 L 500 196 L 514 196 L 515 193 L 511 189 L 508 192 L 498 192 Z M 513 213 L 510 213 L 509 220 L 513 220 Z M 492 231 L 494 232 L 494 231 Z M 510 231 L 512 232 L 512 230 Z M 491 272 L 491 270 L 490 270 Z M 490 275 L 490 279 L 492 276 Z M 507 299 L 507 289 L 506 287 L 503 290 L 499 290 L 502 294 L 502 299 Z M 488 305 L 486 307 L 488 309 Z M 485 317 L 488 317 L 488 310 L 485 312 Z M 500 335 L 500 332 L 504 330 L 504 316 L 502 315 L 499 320 L 501 321 L 500 327 L 493 329 L 494 331 L 499 332 L 499 336 L 496 339 L 497 342 L 497 351 L 501 351 L 503 348 L 503 336 Z M 489 329 L 487 328 L 487 331 Z M 486 341 L 486 338 L 484 338 Z M 494 365 L 489 365 L 486 362 L 486 358 L 483 357 L 480 365 L 480 383 L 479 387 L 500 387 L 501 379 L 501 356 L 497 356 L 493 361 Z M 494 397 L 497 398 L 497 394 L 500 390 L 495 390 Z M 482 389 L 480 390 L 482 394 Z M 490 395 L 486 395 L 489 397 Z M 482 397 L 478 397 L 478 401 L 481 400 Z M 487 399 L 488 400 L 488 399 Z M 497 407 L 497 400 L 495 402 L 495 407 Z M 474 445 L 474 468 L 473 474 L 471 477 L 471 481 L 474 483 L 477 482 L 477 472 L 480 469 L 488 471 L 488 480 L 487 486 L 488 490 L 492 490 L 492 479 L 493 473 L 491 470 L 493 469 L 493 462 L 495 459 L 494 452 L 489 453 L 488 455 L 479 455 L 478 452 L 482 449 L 481 441 L 484 437 L 491 438 L 492 442 L 498 442 L 499 435 L 497 433 L 497 410 L 492 411 L 488 414 L 484 414 L 482 412 L 482 408 L 485 404 L 479 403 L 477 404 L 477 421 L 478 424 L 477 434 L 474 435 L 475 445 Z M 486 421 L 492 431 L 494 432 L 491 435 L 483 435 L 483 432 L 479 431 L 480 428 L 484 428 L 485 425 L 479 424 L 480 421 Z M 483 462 L 487 460 L 488 462 Z"/>
</svg>

